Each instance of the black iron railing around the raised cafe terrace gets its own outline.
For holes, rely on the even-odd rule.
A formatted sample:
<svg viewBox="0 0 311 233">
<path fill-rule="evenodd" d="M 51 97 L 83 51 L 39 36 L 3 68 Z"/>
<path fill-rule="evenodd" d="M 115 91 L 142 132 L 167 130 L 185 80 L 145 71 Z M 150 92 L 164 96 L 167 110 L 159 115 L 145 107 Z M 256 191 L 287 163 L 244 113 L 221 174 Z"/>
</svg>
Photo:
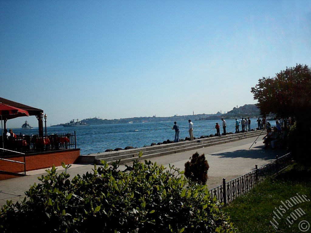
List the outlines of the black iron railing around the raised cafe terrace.
<svg viewBox="0 0 311 233">
<path fill-rule="evenodd" d="M 75 149 L 77 148 L 76 131 L 67 134 L 49 134 L 44 137 L 39 137 L 39 135 L 16 135 L 16 138 L 7 137 L 7 139 L 4 140 L 4 148 L 25 154 Z M 7 150 L 0 149 L 0 156 L 12 155 L 11 152 Z"/>
</svg>

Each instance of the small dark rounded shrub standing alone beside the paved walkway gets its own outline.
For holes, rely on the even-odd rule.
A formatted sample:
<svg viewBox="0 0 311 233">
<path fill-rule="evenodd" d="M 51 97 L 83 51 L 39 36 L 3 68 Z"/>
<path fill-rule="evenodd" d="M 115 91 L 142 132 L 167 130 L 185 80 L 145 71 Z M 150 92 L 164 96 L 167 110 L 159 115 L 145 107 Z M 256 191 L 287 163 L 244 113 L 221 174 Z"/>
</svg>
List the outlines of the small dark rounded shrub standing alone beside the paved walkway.
<svg viewBox="0 0 311 233">
<path fill-rule="evenodd" d="M 208 179 L 207 171 L 210 167 L 205 159 L 205 155 L 195 153 L 192 155 L 191 161 L 185 163 L 185 176 L 198 184 L 205 185 Z"/>
</svg>

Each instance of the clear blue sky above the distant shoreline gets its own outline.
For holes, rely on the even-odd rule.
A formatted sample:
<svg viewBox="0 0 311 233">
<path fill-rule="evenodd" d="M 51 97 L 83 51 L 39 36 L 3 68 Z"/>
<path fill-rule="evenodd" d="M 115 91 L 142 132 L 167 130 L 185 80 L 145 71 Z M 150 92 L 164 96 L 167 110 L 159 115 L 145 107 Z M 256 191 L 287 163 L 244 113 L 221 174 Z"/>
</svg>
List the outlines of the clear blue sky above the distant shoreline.
<svg viewBox="0 0 311 233">
<path fill-rule="evenodd" d="M 310 66 L 310 38 L 310 1 L 1 0 L 0 96 L 48 125 L 230 111 L 262 76 Z"/>
</svg>

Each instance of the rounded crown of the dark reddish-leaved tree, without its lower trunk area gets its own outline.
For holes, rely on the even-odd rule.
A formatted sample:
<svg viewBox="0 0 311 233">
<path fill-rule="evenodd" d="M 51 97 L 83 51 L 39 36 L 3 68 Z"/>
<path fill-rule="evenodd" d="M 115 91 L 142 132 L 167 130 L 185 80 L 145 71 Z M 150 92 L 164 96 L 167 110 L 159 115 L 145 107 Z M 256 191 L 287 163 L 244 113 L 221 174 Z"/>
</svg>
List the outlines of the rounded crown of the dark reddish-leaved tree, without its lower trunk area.
<svg viewBox="0 0 311 233">
<path fill-rule="evenodd" d="M 263 116 L 271 112 L 286 122 L 288 117 L 298 119 L 310 115 L 311 77 L 306 65 L 286 67 L 273 78 L 263 77 L 251 92 Z"/>
</svg>

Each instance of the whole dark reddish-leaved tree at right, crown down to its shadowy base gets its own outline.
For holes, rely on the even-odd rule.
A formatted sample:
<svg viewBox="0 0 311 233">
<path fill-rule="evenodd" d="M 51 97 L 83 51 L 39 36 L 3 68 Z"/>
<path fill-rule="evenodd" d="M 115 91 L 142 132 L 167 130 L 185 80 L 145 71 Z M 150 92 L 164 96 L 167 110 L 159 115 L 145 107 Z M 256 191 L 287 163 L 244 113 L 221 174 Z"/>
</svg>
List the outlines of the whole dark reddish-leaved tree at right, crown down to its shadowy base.
<svg viewBox="0 0 311 233">
<path fill-rule="evenodd" d="M 299 136 L 295 139 L 296 147 L 293 153 L 300 158 L 300 161 L 309 158 L 311 152 L 310 68 L 301 64 L 286 67 L 286 70 L 277 73 L 273 78 L 259 79 L 251 92 L 254 99 L 258 100 L 257 106 L 262 115 L 274 113 L 285 123 L 288 117 L 296 120 Z"/>
</svg>

